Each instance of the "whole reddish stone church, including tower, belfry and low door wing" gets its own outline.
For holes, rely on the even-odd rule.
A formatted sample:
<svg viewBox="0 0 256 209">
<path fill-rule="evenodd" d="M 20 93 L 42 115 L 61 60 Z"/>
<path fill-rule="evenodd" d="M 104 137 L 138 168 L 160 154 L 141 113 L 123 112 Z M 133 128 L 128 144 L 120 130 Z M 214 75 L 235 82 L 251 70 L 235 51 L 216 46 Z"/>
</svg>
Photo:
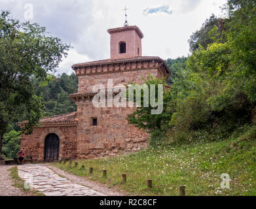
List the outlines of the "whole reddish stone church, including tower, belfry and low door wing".
<svg viewBox="0 0 256 209">
<path fill-rule="evenodd" d="M 126 25 L 107 32 L 111 36 L 110 59 L 72 67 L 79 78 L 78 93 L 70 95 L 77 112 L 43 118 L 31 135 L 22 135 L 21 148 L 34 160 L 88 159 L 147 147 L 147 133 L 126 120 L 135 108 L 96 108 L 92 105 L 96 94 L 92 87 L 102 84 L 107 88 L 108 79 L 113 80 L 113 86 L 141 83 L 148 74 L 167 78 L 170 69 L 160 57 L 142 56 L 143 33 L 139 27 Z M 24 123 L 19 123 L 20 127 Z"/>
</svg>

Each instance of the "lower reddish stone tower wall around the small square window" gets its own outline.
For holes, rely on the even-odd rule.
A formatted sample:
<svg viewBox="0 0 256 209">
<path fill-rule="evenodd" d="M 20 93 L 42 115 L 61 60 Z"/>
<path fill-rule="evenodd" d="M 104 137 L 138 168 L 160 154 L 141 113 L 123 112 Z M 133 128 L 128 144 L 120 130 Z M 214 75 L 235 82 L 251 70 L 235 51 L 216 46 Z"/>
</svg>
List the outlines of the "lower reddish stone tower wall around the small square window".
<svg viewBox="0 0 256 209">
<path fill-rule="evenodd" d="M 77 105 L 79 159 L 117 155 L 147 147 L 149 135 L 130 125 L 126 118 L 134 108 L 95 108 L 91 103 Z M 98 125 L 92 126 L 92 118 Z"/>
</svg>

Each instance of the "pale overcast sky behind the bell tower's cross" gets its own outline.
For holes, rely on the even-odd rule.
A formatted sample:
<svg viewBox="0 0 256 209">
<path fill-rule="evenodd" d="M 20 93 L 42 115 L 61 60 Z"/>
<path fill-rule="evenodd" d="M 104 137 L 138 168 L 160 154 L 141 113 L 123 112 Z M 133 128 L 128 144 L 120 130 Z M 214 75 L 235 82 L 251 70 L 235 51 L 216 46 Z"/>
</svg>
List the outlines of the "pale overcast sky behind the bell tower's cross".
<svg viewBox="0 0 256 209">
<path fill-rule="evenodd" d="M 0 10 L 45 26 L 52 36 L 71 43 L 73 49 L 62 61 L 58 73 L 73 72 L 71 65 L 110 57 L 107 29 L 137 25 L 145 38 L 143 56 L 175 59 L 189 54 L 187 40 L 227 0 L 0 0 Z M 31 18 L 33 6 L 33 19 Z"/>
</svg>

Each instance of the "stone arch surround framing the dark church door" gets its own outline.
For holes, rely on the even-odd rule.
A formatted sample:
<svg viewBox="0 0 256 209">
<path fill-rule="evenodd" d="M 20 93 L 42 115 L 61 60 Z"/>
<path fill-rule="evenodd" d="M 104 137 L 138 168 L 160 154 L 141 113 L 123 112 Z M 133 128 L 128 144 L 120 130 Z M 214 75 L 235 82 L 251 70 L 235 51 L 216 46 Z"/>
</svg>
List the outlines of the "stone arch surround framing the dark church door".
<svg viewBox="0 0 256 209">
<path fill-rule="evenodd" d="M 60 140 L 59 159 L 62 159 L 62 152 L 63 152 L 62 150 L 64 147 L 65 136 L 62 133 L 62 131 L 60 131 L 60 129 L 56 127 L 50 127 L 50 128 L 45 128 L 39 137 L 39 158 L 38 158 L 39 161 L 44 161 L 45 159 L 45 138 L 50 134 L 56 134 Z"/>
</svg>

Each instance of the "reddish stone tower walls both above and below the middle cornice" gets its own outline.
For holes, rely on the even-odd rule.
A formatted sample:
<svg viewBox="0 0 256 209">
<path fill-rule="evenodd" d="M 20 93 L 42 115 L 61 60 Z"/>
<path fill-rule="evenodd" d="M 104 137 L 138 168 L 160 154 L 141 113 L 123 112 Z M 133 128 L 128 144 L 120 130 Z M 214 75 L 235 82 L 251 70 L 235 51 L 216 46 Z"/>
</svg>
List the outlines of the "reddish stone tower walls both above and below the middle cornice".
<svg viewBox="0 0 256 209">
<path fill-rule="evenodd" d="M 79 76 L 79 91 L 91 91 L 95 84 L 107 87 L 107 79 L 113 79 L 113 86 L 142 82 L 148 74 L 160 78 L 158 69 L 139 69 L 109 74 L 91 74 Z M 103 157 L 122 152 L 141 150 L 147 147 L 149 135 L 128 124 L 126 118 L 136 108 L 105 107 L 95 108 L 92 103 L 77 103 L 77 153 L 79 158 Z M 92 126 L 92 118 L 98 119 L 98 125 Z"/>
</svg>

